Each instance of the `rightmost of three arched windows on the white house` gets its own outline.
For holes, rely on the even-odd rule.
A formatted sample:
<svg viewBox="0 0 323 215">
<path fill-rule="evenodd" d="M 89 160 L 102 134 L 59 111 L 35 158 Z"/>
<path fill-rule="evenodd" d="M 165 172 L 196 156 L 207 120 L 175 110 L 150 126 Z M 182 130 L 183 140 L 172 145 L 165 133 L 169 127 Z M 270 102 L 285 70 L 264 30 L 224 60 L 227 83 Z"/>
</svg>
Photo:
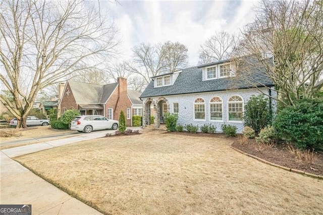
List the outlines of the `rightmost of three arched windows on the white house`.
<svg viewBox="0 0 323 215">
<path fill-rule="evenodd" d="M 228 100 L 229 121 L 242 121 L 243 99 L 239 95 L 233 95 Z"/>
</svg>

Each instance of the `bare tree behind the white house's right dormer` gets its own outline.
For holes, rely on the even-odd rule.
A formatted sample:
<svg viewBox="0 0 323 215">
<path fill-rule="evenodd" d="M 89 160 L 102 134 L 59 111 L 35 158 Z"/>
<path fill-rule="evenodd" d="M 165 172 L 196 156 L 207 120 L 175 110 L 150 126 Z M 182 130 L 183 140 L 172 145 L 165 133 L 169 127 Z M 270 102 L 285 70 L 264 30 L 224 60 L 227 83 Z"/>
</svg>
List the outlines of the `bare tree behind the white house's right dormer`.
<svg viewBox="0 0 323 215">
<path fill-rule="evenodd" d="M 228 32 L 216 32 L 200 46 L 199 64 L 229 59 L 238 40 L 238 36 L 231 35 Z"/>
</svg>

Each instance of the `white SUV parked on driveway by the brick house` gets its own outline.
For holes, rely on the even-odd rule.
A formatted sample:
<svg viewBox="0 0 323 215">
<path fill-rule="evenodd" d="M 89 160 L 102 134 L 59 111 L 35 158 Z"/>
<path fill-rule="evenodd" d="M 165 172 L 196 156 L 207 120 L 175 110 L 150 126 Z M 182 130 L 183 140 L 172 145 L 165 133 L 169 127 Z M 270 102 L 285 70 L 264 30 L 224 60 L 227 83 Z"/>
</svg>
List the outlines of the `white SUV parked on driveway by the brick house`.
<svg viewBox="0 0 323 215">
<path fill-rule="evenodd" d="M 71 122 L 71 130 L 90 133 L 94 130 L 118 129 L 119 121 L 99 115 L 78 116 Z"/>
</svg>

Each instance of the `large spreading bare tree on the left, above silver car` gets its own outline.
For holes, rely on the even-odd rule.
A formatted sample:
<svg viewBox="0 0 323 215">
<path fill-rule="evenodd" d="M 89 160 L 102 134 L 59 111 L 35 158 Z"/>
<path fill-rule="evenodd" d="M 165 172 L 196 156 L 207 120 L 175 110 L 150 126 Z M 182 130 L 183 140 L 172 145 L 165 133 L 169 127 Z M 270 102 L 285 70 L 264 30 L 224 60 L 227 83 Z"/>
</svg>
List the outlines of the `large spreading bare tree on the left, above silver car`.
<svg viewBox="0 0 323 215">
<path fill-rule="evenodd" d="M 26 128 L 37 93 L 117 52 L 114 24 L 97 2 L 4 0 L 0 5 L 0 101 Z"/>
</svg>

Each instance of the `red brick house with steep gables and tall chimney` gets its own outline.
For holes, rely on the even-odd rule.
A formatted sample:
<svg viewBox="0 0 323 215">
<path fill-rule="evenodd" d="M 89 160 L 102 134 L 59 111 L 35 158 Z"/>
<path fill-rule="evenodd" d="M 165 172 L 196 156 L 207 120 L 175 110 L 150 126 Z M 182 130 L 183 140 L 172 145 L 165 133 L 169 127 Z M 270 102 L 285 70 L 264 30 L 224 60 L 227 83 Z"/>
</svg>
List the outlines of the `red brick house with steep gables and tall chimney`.
<svg viewBox="0 0 323 215">
<path fill-rule="evenodd" d="M 119 120 L 123 110 L 127 126 L 132 125 L 132 116 L 142 110 L 139 92 L 127 89 L 127 79 L 118 78 L 117 83 L 98 85 L 67 81 L 62 89 L 60 84 L 58 112 L 76 109 L 80 115 L 102 115 L 108 119 Z M 142 113 L 142 111 L 141 111 Z"/>
</svg>

